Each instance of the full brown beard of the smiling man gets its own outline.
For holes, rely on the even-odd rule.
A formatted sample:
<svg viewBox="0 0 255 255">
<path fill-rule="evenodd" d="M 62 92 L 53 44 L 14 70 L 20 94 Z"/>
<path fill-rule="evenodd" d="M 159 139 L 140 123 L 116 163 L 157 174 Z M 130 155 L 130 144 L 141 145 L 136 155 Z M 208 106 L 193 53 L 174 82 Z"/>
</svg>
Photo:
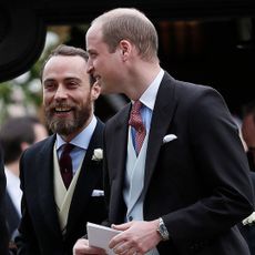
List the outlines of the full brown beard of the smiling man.
<svg viewBox="0 0 255 255">
<path fill-rule="evenodd" d="M 85 125 L 85 123 L 91 116 L 92 102 L 88 96 L 85 104 L 81 106 L 76 106 L 76 105 L 72 106 L 73 118 L 69 118 L 69 119 L 55 118 L 55 112 L 54 112 L 55 106 L 61 108 L 62 105 L 67 105 L 67 104 L 59 103 L 59 104 L 54 104 L 53 106 L 44 108 L 45 122 L 48 128 L 53 133 L 58 133 L 60 135 L 70 135 L 81 130 Z"/>
</svg>

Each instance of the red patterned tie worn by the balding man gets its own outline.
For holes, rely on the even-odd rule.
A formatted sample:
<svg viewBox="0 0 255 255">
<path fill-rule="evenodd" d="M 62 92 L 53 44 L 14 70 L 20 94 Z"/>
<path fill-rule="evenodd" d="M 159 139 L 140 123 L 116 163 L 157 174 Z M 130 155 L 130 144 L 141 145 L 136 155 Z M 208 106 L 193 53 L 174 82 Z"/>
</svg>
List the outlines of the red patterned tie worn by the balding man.
<svg viewBox="0 0 255 255">
<path fill-rule="evenodd" d="M 135 151 L 137 155 L 140 153 L 144 137 L 146 135 L 146 129 L 143 124 L 142 115 L 140 113 L 142 103 L 139 100 L 135 101 L 132 106 L 129 120 L 129 124 L 135 129 Z"/>
</svg>

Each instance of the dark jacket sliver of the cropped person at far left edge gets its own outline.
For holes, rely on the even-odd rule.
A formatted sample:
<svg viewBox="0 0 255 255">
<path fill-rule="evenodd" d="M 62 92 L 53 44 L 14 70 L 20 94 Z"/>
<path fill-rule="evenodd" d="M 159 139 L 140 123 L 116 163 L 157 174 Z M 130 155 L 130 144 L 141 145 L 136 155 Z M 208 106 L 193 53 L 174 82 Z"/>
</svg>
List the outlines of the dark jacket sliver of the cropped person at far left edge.
<svg viewBox="0 0 255 255">
<path fill-rule="evenodd" d="M 6 175 L 3 167 L 2 151 L 0 149 L 0 253 L 2 255 L 8 254 L 8 231 L 7 231 L 7 221 L 6 221 Z"/>
</svg>

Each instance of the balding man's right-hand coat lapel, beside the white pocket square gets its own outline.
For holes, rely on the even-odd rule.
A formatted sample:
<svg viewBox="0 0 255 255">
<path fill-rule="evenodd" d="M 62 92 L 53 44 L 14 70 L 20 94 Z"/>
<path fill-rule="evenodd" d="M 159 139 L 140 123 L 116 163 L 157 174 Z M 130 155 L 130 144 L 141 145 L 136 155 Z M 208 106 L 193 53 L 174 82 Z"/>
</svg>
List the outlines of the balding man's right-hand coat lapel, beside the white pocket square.
<svg viewBox="0 0 255 255">
<path fill-rule="evenodd" d="M 163 137 L 167 132 L 176 108 L 174 89 L 175 85 L 173 83 L 173 78 L 165 73 L 157 91 L 149 134 L 145 160 L 144 194 L 146 194 L 163 144 Z"/>
</svg>

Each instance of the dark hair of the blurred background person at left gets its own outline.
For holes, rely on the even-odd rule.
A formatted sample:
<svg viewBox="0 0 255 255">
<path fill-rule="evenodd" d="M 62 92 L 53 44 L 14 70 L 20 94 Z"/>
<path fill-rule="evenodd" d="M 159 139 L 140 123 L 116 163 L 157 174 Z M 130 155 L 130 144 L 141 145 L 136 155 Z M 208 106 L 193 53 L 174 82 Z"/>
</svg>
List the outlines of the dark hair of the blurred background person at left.
<svg viewBox="0 0 255 255">
<path fill-rule="evenodd" d="M 23 142 L 32 144 L 35 141 L 34 124 L 40 121 L 34 116 L 11 118 L 0 129 L 0 144 L 3 151 L 4 163 L 19 159 Z"/>
</svg>

